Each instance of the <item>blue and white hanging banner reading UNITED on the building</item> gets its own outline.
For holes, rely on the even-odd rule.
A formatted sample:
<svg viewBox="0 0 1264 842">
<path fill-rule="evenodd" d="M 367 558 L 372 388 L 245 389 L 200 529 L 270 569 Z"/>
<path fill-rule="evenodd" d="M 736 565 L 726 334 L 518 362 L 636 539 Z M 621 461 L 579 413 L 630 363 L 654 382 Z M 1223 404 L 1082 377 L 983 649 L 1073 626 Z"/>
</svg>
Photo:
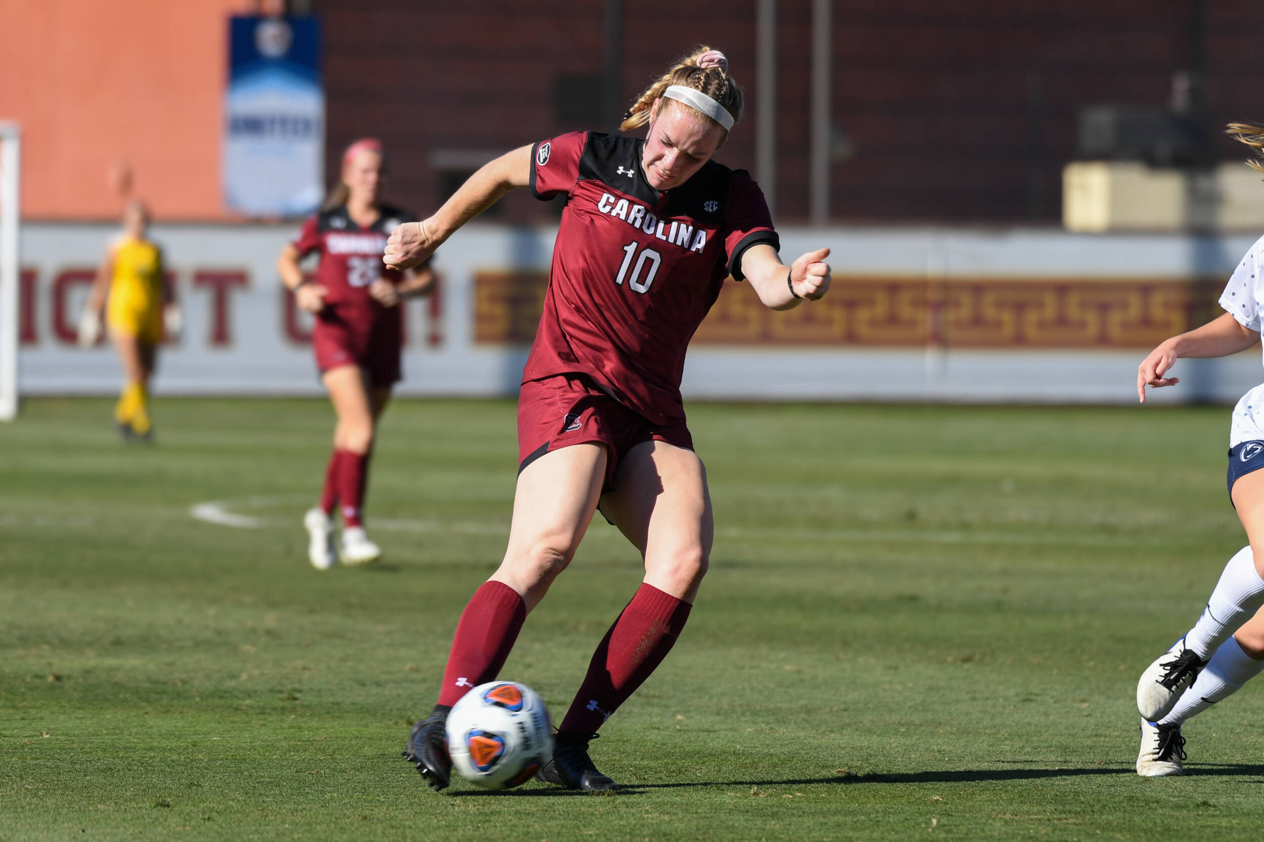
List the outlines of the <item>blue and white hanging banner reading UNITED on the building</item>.
<svg viewBox="0 0 1264 842">
<path fill-rule="evenodd" d="M 325 88 L 316 18 L 229 19 L 224 202 L 252 216 L 315 210 L 325 182 Z"/>
</svg>

